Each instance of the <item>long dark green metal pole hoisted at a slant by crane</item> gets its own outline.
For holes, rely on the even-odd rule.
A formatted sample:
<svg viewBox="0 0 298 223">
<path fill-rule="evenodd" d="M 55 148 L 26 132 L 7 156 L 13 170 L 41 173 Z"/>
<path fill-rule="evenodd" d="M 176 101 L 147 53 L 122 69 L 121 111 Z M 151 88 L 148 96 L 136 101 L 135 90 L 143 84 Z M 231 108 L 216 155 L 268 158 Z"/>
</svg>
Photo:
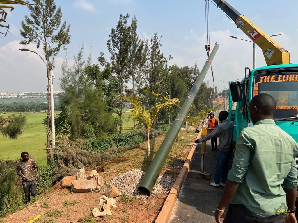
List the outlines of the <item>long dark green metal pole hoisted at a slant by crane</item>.
<svg viewBox="0 0 298 223">
<path fill-rule="evenodd" d="M 218 49 L 219 45 L 216 43 L 211 54 L 209 55 L 209 60 L 212 62 L 215 53 Z M 171 128 L 169 129 L 167 135 L 160 145 L 159 150 L 157 151 L 152 163 L 148 167 L 148 170 L 142 179 L 141 183 L 139 184 L 138 191 L 141 194 L 150 195 L 156 180 L 162 171 L 162 167 L 164 166 L 164 162 L 167 159 L 167 156 L 170 153 L 170 150 L 177 138 L 177 135 L 180 131 L 180 128 L 185 120 L 185 116 L 190 109 L 190 106 L 193 104 L 195 95 L 198 93 L 198 90 L 206 76 L 206 73 L 210 67 L 209 61 L 206 61 L 204 67 L 202 68 L 198 78 L 196 79 L 193 88 L 190 90 L 189 95 L 187 96 L 183 106 L 181 107 L 179 113 L 177 114 Z"/>
</svg>

